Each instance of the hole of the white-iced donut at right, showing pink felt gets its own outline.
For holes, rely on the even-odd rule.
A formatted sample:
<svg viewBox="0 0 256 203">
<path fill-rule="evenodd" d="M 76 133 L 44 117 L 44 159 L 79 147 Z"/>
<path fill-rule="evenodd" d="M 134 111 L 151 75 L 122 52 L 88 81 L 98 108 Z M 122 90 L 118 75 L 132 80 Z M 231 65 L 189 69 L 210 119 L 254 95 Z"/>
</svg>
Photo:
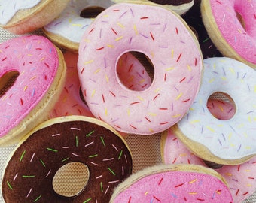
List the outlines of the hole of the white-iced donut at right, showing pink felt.
<svg viewBox="0 0 256 203">
<path fill-rule="evenodd" d="M 236 104 L 230 95 L 224 92 L 215 92 L 207 100 L 207 108 L 215 118 L 230 120 L 236 114 Z"/>
</svg>

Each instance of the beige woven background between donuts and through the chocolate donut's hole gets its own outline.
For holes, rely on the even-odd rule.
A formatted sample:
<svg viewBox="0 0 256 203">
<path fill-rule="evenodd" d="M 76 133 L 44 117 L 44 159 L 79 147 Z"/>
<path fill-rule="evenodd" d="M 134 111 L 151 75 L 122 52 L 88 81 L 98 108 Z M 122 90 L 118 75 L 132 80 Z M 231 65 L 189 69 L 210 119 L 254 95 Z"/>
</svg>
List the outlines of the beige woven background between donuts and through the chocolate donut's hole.
<svg viewBox="0 0 256 203">
<path fill-rule="evenodd" d="M 39 30 L 32 34 L 43 35 Z M 10 38 L 14 38 L 9 32 L 0 29 L 0 43 Z M 1 68 L 1 67 L 0 67 Z M 1 114 L 1 112 L 0 112 Z M 157 165 L 161 162 L 160 155 L 160 138 L 161 135 L 129 135 L 125 138 L 130 150 L 133 154 L 133 172 L 142 170 L 151 165 Z M 2 173 L 5 168 L 8 156 L 15 146 L 0 147 L 0 182 L 2 183 Z M 71 176 L 72 174 L 72 176 Z M 87 180 L 87 173 L 81 170 L 81 165 L 75 164 L 72 167 L 61 168 L 56 180 L 56 192 L 61 192 L 62 195 L 74 195 L 79 192 L 81 186 L 84 186 L 84 181 Z M 72 178 L 71 178 L 72 177 Z M 2 198 L 2 189 L 0 191 L 0 202 L 5 202 Z M 243 203 L 255 203 L 256 192 Z"/>
</svg>

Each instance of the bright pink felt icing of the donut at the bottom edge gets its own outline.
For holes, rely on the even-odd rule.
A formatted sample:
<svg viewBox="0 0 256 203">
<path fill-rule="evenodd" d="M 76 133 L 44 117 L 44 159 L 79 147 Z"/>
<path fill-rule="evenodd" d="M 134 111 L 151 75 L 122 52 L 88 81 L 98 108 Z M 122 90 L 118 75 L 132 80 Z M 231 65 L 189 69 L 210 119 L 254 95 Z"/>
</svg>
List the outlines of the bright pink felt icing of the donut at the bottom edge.
<svg viewBox="0 0 256 203">
<path fill-rule="evenodd" d="M 166 171 L 136 180 L 113 202 L 233 202 L 233 198 L 227 186 L 209 174 Z"/>
</svg>

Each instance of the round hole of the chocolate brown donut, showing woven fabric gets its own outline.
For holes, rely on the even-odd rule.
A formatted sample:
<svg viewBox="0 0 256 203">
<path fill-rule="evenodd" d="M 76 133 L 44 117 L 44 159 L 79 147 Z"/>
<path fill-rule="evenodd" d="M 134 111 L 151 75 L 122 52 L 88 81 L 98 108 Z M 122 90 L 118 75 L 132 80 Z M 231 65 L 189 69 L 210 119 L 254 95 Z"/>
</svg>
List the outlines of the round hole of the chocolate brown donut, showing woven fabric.
<svg viewBox="0 0 256 203">
<path fill-rule="evenodd" d="M 53 177 L 53 190 L 57 195 L 73 198 L 84 191 L 90 177 L 87 165 L 70 162 L 56 171 Z"/>
</svg>

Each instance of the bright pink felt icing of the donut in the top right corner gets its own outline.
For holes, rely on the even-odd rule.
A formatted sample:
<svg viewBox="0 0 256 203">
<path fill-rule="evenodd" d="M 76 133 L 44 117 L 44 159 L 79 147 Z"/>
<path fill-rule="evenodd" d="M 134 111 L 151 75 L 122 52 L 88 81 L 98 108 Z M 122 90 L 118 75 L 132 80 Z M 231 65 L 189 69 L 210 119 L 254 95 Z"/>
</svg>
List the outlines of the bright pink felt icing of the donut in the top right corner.
<svg viewBox="0 0 256 203">
<path fill-rule="evenodd" d="M 209 1 L 218 29 L 228 44 L 248 62 L 256 64 L 256 1 Z M 245 29 L 236 17 L 245 21 Z"/>
</svg>

